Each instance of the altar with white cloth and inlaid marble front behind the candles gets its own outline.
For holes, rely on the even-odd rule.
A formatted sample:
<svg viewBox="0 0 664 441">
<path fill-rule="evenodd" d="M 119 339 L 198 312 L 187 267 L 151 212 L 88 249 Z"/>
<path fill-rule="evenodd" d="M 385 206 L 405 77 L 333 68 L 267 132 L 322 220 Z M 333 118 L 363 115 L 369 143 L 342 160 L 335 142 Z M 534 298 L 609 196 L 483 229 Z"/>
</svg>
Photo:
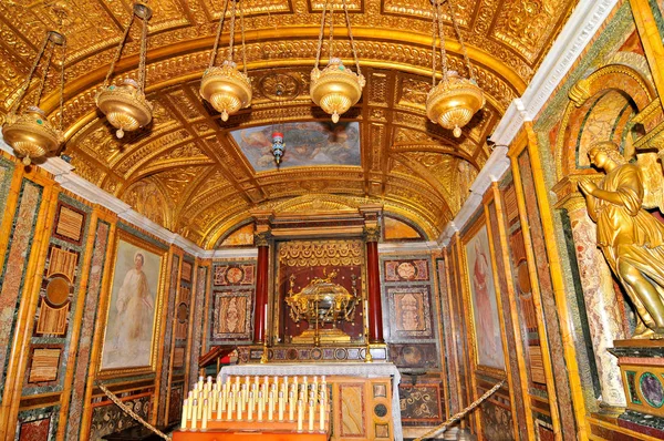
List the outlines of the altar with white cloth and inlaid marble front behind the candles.
<svg viewBox="0 0 664 441">
<path fill-rule="evenodd" d="M 332 388 L 331 440 L 403 440 L 398 383 L 392 363 L 264 363 L 226 366 L 227 377 L 325 376 Z"/>
</svg>

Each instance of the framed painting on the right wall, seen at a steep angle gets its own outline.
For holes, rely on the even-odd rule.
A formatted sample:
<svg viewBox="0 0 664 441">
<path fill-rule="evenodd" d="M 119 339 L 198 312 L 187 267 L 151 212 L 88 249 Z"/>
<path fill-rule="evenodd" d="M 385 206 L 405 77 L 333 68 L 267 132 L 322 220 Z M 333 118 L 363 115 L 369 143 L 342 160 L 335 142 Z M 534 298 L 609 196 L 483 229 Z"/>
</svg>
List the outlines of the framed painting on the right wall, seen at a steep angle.
<svg viewBox="0 0 664 441">
<path fill-rule="evenodd" d="M 484 217 L 464 238 L 473 342 L 478 368 L 505 372 L 505 352 L 494 283 L 489 235 Z"/>
</svg>

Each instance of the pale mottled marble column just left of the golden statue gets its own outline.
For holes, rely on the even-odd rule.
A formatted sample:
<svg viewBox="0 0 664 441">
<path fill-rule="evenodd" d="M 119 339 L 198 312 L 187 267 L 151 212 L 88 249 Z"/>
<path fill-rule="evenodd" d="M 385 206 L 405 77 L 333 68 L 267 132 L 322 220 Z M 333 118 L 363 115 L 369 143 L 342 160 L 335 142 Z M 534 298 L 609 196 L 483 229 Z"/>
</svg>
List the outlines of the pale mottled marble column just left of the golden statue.
<svg viewBox="0 0 664 441">
<path fill-rule="evenodd" d="M 618 358 L 606 350 L 613 347 L 613 340 L 625 338 L 611 268 L 596 246 L 596 225 L 588 216 L 585 198 L 580 193 L 572 193 L 560 206 L 567 209 L 572 227 L 602 402 L 623 408 L 626 401 Z"/>
</svg>

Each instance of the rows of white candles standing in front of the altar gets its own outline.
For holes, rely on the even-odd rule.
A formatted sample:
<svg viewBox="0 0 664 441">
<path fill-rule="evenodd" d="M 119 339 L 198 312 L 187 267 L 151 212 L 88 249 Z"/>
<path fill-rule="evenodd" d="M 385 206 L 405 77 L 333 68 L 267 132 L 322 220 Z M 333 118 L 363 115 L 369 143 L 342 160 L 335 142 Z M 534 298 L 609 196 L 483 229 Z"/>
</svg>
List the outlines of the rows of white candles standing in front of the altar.
<svg viewBox="0 0 664 441">
<path fill-rule="evenodd" d="M 314 431 L 314 420 L 318 414 L 319 431 L 325 430 L 328 387 L 325 377 L 318 377 L 313 382 L 308 382 L 308 377 L 299 382 L 298 377 L 263 377 L 260 383 L 259 377 L 246 376 L 228 377 L 226 381 L 212 381 L 208 377 L 204 382 L 203 377 L 189 391 L 183 403 L 181 429 L 207 430 L 208 421 L 286 421 L 284 412 L 288 407 L 288 421 L 295 421 L 298 431 L 303 431 L 304 409 L 308 409 L 308 431 Z M 255 420 L 256 413 L 256 420 Z M 264 419 L 267 413 L 267 420 Z"/>
</svg>

